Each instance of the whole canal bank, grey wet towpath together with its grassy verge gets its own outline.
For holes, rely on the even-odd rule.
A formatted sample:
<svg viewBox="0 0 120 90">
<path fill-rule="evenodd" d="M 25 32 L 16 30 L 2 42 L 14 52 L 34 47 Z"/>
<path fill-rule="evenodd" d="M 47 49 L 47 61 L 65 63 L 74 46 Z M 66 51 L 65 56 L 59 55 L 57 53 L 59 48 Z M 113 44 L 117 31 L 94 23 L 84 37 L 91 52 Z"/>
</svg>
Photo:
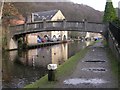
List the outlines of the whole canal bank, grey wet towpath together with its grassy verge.
<svg viewBox="0 0 120 90">
<path fill-rule="evenodd" d="M 101 42 L 75 54 L 59 66 L 56 75 L 54 82 L 48 82 L 46 75 L 25 88 L 118 88 Z"/>
</svg>

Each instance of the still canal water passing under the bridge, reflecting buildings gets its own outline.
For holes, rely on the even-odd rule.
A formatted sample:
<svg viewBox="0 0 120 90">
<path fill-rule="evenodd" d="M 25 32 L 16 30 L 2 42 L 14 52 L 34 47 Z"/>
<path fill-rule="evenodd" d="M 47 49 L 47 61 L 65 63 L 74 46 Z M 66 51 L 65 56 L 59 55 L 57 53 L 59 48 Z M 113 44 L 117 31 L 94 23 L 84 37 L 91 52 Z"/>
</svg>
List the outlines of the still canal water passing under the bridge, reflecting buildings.
<svg viewBox="0 0 120 90">
<path fill-rule="evenodd" d="M 53 46 L 9 51 L 2 55 L 3 88 L 22 88 L 47 74 L 48 64 L 61 65 L 68 58 L 89 45 L 74 41 Z"/>
</svg>

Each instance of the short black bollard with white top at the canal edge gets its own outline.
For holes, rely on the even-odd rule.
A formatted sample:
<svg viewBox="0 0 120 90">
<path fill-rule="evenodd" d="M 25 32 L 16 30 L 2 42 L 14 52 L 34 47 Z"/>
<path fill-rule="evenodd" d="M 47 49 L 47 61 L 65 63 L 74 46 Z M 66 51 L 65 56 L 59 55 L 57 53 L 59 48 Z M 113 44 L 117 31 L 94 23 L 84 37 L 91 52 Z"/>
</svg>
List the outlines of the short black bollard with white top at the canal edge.
<svg viewBox="0 0 120 90">
<path fill-rule="evenodd" d="M 57 64 L 48 64 L 48 81 L 55 81 Z"/>
</svg>

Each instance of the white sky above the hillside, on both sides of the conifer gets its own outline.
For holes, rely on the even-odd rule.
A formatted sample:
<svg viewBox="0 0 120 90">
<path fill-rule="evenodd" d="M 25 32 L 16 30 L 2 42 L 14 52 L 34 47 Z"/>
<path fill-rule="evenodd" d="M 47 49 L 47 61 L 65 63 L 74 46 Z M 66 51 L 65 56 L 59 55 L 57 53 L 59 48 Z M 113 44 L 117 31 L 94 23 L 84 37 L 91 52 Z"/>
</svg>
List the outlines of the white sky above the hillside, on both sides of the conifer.
<svg viewBox="0 0 120 90">
<path fill-rule="evenodd" d="M 104 11 L 105 4 L 106 4 L 106 0 L 71 0 L 71 1 L 74 3 L 78 3 L 78 4 L 88 5 L 88 6 L 93 7 L 94 9 L 99 10 L 99 11 Z M 115 8 L 118 7 L 119 1 L 120 0 L 112 0 L 113 6 Z"/>
</svg>

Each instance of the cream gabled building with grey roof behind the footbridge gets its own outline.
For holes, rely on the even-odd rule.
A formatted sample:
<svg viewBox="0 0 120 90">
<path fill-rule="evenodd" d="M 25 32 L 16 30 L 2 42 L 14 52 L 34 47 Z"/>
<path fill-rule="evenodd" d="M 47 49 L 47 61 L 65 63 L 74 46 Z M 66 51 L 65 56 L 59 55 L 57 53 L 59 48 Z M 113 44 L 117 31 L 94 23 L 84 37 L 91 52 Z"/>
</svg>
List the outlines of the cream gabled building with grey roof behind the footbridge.
<svg viewBox="0 0 120 90">
<path fill-rule="evenodd" d="M 27 22 L 39 22 L 39 21 L 61 21 L 64 20 L 65 16 L 60 10 L 50 10 L 50 11 L 43 11 L 43 12 L 34 12 L 29 17 Z M 31 34 L 32 35 L 32 34 Z M 38 35 L 41 38 L 48 37 L 53 41 L 56 40 L 66 40 L 68 38 L 68 32 L 67 31 L 51 31 L 51 32 L 40 32 Z M 30 37 L 30 34 L 27 35 L 27 37 Z M 35 38 L 34 38 L 35 40 Z M 31 40 L 28 40 L 30 43 Z M 37 43 L 37 39 L 36 39 Z"/>
</svg>

